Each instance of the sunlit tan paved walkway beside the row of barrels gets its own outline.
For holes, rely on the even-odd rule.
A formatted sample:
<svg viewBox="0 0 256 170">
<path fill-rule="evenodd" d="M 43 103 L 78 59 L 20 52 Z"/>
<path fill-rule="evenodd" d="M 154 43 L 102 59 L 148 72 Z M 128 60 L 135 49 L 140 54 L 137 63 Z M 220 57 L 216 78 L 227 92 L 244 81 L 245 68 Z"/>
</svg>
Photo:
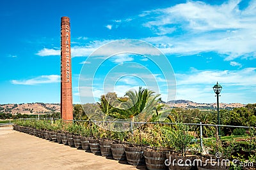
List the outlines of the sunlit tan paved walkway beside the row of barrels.
<svg viewBox="0 0 256 170">
<path fill-rule="evenodd" d="M 146 169 L 0 127 L 0 169 Z"/>
</svg>

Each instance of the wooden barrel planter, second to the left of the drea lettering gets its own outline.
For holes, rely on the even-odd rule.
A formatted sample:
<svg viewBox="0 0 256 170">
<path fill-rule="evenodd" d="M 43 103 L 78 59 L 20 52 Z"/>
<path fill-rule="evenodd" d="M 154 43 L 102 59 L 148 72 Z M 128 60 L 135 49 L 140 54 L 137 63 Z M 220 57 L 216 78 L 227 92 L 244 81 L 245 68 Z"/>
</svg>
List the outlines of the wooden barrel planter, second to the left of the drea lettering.
<svg viewBox="0 0 256 170">
<path fill-rule="evenodd" d="M 143 146 L 125 146 L 125 155 L 128 164 L 134 166 L 145 165 L 143 150 Z"/>
</svg>

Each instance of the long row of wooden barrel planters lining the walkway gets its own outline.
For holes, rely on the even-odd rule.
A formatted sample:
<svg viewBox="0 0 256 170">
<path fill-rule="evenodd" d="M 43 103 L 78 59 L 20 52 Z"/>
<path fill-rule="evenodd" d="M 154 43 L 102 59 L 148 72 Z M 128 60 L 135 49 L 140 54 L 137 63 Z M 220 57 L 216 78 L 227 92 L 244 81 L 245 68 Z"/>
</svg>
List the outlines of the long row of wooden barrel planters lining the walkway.
<svg viewBox="0 0 256 170">
<path fill-rule="evenodd" d="M 19 125 L 13 125 L 13 129 L 37 136 L 39 138 L 47 139 L 49 141 L 69 145 L 70 147 L 83 149 L 87 152 L 98 153 L 104 157 L 113 157 L 115 160 L 127 160 L 128 164 L 134 166 L 146 165 L 147 169 L 149 170 L 197 169 L 196 167 L 188 164 L 186 164 L 186 166 L 178 166 L 176 164 L 166 165 L 166 160 L 173 157 L 173 155 L 170 155 L 166 150 L 152 150 L 150 148 L 146 148 L 145 146 L 131 146 L 113 143 L 113 141 L 107 139 L 93 139 L 92 137 L 84 137 L 76 134 L 69 134 L 67 132 L 44 131 Z M 182 159 L 182 157 L 175 156 L 174 159 L 178 160 Z M 192 159 L 196 159 L 196 157 L 191 157 L 191 160 Z M 226 168 L 227 167 L 225 167 L 225 169 Z"/>
</svg>

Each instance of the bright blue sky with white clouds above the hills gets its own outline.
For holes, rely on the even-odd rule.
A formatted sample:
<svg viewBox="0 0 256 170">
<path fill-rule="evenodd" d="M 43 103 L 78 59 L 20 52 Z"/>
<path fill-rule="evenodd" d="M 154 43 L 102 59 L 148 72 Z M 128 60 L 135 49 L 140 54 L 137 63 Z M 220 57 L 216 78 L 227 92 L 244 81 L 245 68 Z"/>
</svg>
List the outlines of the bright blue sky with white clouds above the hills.
<svg viewBox="0 0 256 170">
<path fill-rule="evenodd" d="M 170 74 L 175 76 L 176 96 L 172 97 L 176 99 L 214 103 L 212 87 L 218 81 L 223 86 L 220 102 L 256 103 L 255 13 L 253 0 L 2 1 L 0 103 L 60 103 L 63 16 L 71 22 L 74 103 L 80 102 L 81 93 L 86 102 L 97 101 L 111 90 L 102 89 L 102 84 L 112 85 L 118 96 L 139 86 L 154 90 L 147 83 L 152 80 L 149 73 L 158 83 L 157 92 L 166 97 L 162 83 L 168 80 L 162 81 L 159 72 L 163 66 L 155 66 L 142 55 L 108 57 L 104 60 L 108 67 L 102 64 L 95 76 L 89 74 L 95 63 L 88 56 L 120 39 L 145 41 L 163 52 L 173 69 Z M 84 95 L 85 85 L 79 91 L 82 67 L 88 70 L 83 76 L 95 81 L 94 99 Z M 111 78 L 116 80 L 109 81 Z"/>
</svg>

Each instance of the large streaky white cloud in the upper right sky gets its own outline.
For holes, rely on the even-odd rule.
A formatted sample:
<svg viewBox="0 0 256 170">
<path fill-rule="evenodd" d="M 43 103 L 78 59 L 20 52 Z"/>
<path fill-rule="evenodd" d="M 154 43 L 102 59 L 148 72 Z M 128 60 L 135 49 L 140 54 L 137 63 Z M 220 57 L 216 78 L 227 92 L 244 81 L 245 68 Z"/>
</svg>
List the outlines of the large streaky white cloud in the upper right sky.
<svg viewBox="0 0 256 170">
<path fill-rule="evenodd" d="M 190 55 L 200 52 L 218 52 L 226 60 L 237 57 L 256 57 L 255 2 L 239 10 L 239 2 L 230 0 L 221 5 L 188 1 L 170 8 L 145 11 L 140 15 L 147 20 L 143 25 L 157 35 L 145 38 L 158 45 L 164 53 Z M 153 19 L 152 19 L 153 18 Z M 150 20 L 150 21 L 148 21 Z M 173 32 L 183 32 L 169 36 Z"/>
</svg>

